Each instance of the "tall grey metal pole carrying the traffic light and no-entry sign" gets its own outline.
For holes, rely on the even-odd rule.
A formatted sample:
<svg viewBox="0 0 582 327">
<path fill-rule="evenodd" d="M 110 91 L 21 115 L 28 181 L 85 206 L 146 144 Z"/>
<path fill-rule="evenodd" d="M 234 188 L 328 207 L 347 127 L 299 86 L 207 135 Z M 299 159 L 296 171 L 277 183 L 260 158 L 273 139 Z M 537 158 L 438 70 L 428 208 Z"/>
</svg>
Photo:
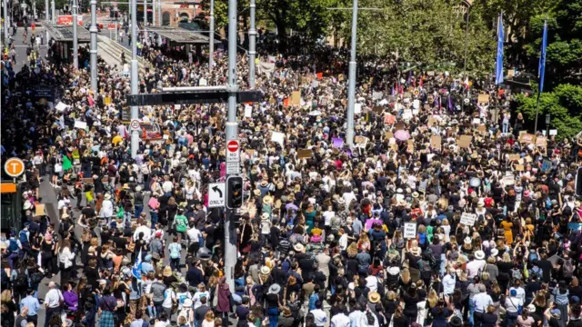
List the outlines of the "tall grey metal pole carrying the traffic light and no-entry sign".
<svg viewBox="0 0 582 327">
<path fill-rule="evenodd" d="M 238 123 L 236 122 L 236 0 L 228 0 L 228 121 L 226 122 L 226 143 L 236 140 Z M 226 144 L 225 144 L 226 147 Z M 226 175 L 228 178 L 228 175 Z M 228 195 L 226 195 L 228 196 Z M 235 213 L 226 209 L 225 219 L 225 276 L 231 292 L 235 290 L 236 265 L 236 231 Z"/>
</svg>

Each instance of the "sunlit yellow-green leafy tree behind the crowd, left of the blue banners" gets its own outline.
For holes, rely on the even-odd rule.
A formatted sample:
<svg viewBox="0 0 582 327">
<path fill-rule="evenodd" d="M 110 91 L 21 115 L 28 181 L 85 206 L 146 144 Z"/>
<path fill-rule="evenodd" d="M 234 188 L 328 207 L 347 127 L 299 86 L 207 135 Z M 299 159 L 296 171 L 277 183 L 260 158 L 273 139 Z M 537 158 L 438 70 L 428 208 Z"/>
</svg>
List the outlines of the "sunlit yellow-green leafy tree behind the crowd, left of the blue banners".
<svg viewBox="0 0 582 327">
<path fill-rule="evenodd" d="M 467 41 L 466 15 L 447 0 L 363 0 L 360 6 L 381 9 L 358 12 L 360 54 L 397 54 L 410 63 L 454 63 L 462 69 L 467 45 L 467 71 L 490 72 L 493 68 L 495 37 L 483 21 L 483 6 L 478 3 L 471 8 Z M 350 21 L 346 16 L 346 22 Z M 344 25 L 346 37 L 350 27 Z"/>
</svg>

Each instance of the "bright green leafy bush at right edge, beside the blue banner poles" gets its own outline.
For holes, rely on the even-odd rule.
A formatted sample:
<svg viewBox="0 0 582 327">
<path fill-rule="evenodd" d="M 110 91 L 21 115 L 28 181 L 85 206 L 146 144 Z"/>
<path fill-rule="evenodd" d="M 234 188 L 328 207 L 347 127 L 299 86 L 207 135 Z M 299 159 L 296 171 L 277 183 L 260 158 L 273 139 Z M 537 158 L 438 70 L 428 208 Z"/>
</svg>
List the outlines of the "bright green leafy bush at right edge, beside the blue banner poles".
<svg viewBox="0 0 582 327">
<path fill-rule="evenodd" d="M 517 111 L 529 122 L 536 119 L 536 96 L 517 96 Z M 558 139 L 579 133 L 582 130 L 582 86 L 560 84 L 553 92 L 541 94 L 538 122 L 542 122 L 546 114 L 550 114 L 551 128 L 557 129 Z"/>
</svg>

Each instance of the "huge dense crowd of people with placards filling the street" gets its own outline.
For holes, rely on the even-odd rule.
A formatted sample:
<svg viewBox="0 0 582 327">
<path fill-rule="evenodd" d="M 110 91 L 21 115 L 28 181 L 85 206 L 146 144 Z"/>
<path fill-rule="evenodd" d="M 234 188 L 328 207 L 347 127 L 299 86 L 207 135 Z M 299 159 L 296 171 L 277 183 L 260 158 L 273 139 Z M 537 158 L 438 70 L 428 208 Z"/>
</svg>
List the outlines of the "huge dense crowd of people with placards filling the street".
<svg viewBox="0 0 582 327">
<path fill-rule="evenodd" d="M 141 44 L 140 93 L 226 83 L 226 54 L 209 69 Z M 156 133 L 132 158 L 123 67 L 99 60 L 94 93 L 49 45 L 33 69 L 2 67 L 2 159 L 26 163 L 24 225 L 1 244 L 3 326 L 41 310 L 45 327 L 582 326 L 582 139 L 522 133 L 509 89 L 360 57 L 350 147 L 348 53 L 260 52 L 263 99 L 238 105 L 231 288 L 207 189 L 226 174 L 226 105 L 140 107 Z M 244 54 L 237 71 L 245 89 Z M 47 183 L 57 217 L 35 210 Z"/>
</svg>

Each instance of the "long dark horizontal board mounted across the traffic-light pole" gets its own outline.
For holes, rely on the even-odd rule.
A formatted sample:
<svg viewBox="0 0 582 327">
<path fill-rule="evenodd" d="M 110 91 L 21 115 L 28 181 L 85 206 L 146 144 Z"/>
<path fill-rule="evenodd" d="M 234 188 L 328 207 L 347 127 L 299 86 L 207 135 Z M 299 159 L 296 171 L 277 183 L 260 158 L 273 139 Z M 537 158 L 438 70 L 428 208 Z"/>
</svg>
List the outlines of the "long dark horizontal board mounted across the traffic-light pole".
<svg viewBox="0 0 582 327">
<path fill-rule="evenodd" d="M 263 94 L 260 91 L 240 91 L 236 93 L 236 103 L 260 102 Z M 160 104 L 225 104 L 228 101 L 226 91 L 207 91 L 196 93 L 158 93 L 126 95 L 127 105 L 160 105 Z"/>
</svg>

